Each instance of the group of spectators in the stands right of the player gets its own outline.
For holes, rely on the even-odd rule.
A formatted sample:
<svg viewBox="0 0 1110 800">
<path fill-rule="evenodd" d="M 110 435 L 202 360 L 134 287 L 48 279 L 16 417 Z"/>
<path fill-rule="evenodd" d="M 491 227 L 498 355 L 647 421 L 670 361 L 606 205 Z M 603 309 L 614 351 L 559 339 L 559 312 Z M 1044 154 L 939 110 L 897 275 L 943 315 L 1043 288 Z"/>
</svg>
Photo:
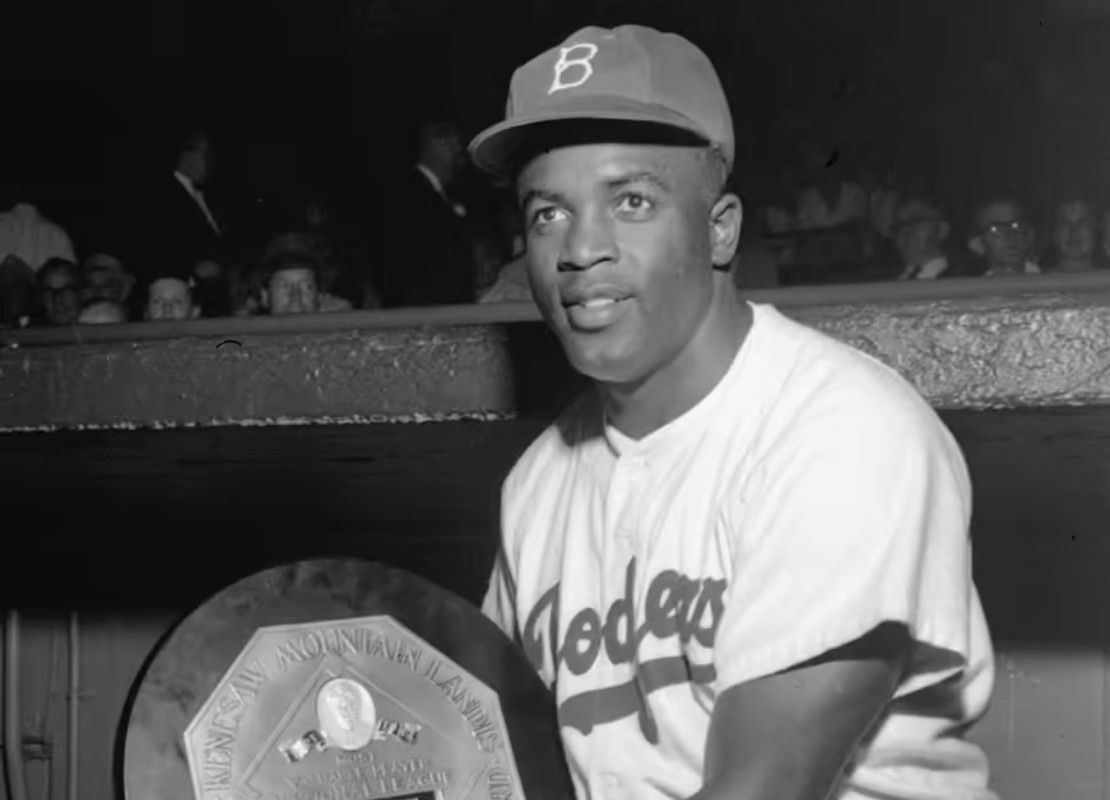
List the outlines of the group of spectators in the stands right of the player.
<svg viewBox="0 0 1110 800">
<path fill-rule="evenodd" d="M 1110 260 L 1110 216 L 1083 192 L 1030 209 L 1005 191 L 963 214 L 936 188 L 891 169 L 854 168 L 814 146 L 760 215 L 760 247 L 779 285 L 1086 272 Z M 963 219 L 961 219 L 961 216 Z"/>
</svg>

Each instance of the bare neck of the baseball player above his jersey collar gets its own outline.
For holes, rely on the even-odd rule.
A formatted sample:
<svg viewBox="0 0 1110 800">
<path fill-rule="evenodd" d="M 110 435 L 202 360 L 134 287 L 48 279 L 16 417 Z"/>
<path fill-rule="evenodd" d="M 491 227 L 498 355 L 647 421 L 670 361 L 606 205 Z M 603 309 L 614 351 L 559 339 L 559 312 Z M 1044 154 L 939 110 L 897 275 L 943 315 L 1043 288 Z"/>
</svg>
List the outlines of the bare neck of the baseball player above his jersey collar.
<svg viewBox="0 0 1110 800">
<path fill-rule="evenodd" d="M 682 352 L 632 385 L 599 384 L 609 422 L 640 439 L 677 419 L 708 395 L 731 367 L 751 327 L 751 307 L 740 300 L 731 275 L 717 273 L 706 320 Z"/>
</svg>

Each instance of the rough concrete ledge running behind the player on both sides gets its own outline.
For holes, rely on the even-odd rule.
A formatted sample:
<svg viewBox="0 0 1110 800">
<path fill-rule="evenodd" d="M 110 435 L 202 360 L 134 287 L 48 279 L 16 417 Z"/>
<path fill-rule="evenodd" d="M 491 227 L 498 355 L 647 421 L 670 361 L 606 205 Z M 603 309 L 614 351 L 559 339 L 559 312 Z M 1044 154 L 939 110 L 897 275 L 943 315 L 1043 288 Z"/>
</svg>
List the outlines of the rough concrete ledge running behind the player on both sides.
<svg viewBox="0 0 1110 800">
<path fill-rule="evenodd" d="M 939 408 L 1110 403 L 1110 272 L 751 293 Z M 582 384 L 531 305 L 6 334 L 0 431 L 500 419 Z"/>
</svg>

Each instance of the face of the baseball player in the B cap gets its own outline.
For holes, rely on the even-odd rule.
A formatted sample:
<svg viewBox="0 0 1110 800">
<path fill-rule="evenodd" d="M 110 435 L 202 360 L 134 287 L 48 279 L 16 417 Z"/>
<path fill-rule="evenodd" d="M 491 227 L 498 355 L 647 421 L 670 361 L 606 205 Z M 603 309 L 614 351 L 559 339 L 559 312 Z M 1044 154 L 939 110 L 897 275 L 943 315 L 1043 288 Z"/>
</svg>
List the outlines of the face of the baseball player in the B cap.
<svg viewBox="0 0 1110 800">
<path fill-rule="evenodd" d="M 710 202 L 697 151 L 554 150 L 521 173 L 528 279 L 573 366 L 633 383 L 672 363 L 714 292 Z"/>
</svg>

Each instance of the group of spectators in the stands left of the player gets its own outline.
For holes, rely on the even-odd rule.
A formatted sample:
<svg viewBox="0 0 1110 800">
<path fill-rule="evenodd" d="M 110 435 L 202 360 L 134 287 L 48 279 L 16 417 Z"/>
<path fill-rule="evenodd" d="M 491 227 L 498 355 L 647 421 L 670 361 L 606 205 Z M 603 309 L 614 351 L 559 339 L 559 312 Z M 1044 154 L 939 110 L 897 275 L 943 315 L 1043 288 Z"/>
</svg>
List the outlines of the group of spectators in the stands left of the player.
<svg viewBox="0 0 1110 800">
<path fill-rule="evenodd" d="M 186 131 L 133 198 L 122 234 L 85 247 L 27 198 L 0 212 L 0 326 L 68 326 L 466 304 L 522 246 L 508 194 L 470 189 L 451 123 L 341 219 L 325 192 L 221 205 L 216 145 Z M 471 179 L 473 183 L 473 179 Z M 504 188 L 502 188 L 504 189 Z M 3 191 L 0 195 L 13 194 Z"/>
</svg>

